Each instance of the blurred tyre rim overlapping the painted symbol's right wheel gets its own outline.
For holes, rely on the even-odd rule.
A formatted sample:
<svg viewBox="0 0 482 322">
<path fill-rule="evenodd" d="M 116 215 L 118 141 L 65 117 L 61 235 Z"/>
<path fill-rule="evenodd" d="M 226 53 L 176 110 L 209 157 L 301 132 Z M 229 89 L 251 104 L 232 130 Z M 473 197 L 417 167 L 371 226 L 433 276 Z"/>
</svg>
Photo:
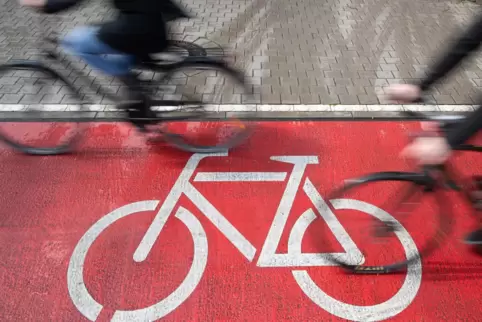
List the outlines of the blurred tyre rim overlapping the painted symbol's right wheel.
<svg viewBox="0 0 482 322">
<path fill-rule="evenodd" d="M 407 256 L 405 260 L 393 262 L 384 265 L 353 265 L 346 260 L 341 259 L 339 256 L 333 254 L 326 254 L 327 259 L 333 264 L 340 266 L 347 272 L 355 274 L 388 274 L 404 271 L 410 264 L 420 260 L 422 257 L 427 257 L 433 251 L 435 251 L 440 244 L 447 238 L 452 232 L 452 213 L 450 212 L 450 205 L 447 204 L 446 197 L 443 196 L 441 189 L 435 185 L 435 181 L 429 176 L 416 173 L 416 172 L 379 172 L 365 175 L 356 179 L 346 180 L 345 183 L 337 189 L 334 189 L 329 194 L 330 201 L 346 198 L 348 192 L 352 192 L 362 186 L 371 185 L 377 182 L 405 182 L 409 183 L 409 195 L 415 192 L 421 192 L 424 197 L 426 195 L 433 196 L 437 205 L 437 219 L 438 227 L 435 234 L 429 238 L 429 240 L 419 247 L 418 254 L 413 256 Z M 401 194 L 402 200 L 406 198 L 407 194 Z M 345 197 L 344 197 L 345 196 Z M 397 204 L 399 206 L 399 204 Z M 398 219 L 391 214 L 395 221 L 399 223 Z M 393 222 L 392 222 L 393 224 Z M 400 224 L 401 225 L 401 224 Z M 403 227 L 403 226 L 402 226 Z M 405 228 L 403 228 L 405 230 Z"/>
</svg>

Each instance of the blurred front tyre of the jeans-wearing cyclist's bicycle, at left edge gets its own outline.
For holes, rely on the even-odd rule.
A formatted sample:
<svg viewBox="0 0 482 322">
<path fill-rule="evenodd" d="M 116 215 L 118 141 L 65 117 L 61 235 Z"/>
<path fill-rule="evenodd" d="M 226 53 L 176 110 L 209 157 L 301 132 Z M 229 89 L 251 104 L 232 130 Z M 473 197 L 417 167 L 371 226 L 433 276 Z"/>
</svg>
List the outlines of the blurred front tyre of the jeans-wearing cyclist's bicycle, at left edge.
<svg viewBox="0 0 482 322">
<path fill-rule="evenodd" d="M 68 90 L 72 98 L 78 99 L 79 102 L 81 101 L 80 93 L 65 77 L 57 73 L 55 70 L 45 66 L 41 62 L 13 61 L 7 64 L 0 65 L 0 77 L 14 70 L 32 71 L 35 72 L 36 76 L 41 79 L 54 80 L 56 84 L 62 85 L 64 90 Z M 82 112 L 82 109 L 82 105 L 80 105 L 79 111 Z M 52 113 L 44 112 L 44 117 L 32 116 L 35 115 L 33 112 L 22 112 L 21 114 L 22 115 L 20 117 L 16 117 L 18 119 L 18 122 L 45 122 L 42 121 L 42 119 L 48 118 L 45 118 L 45 115 Z M 10 119 L 9 122 L 12 122 L 12 120 Z M 52 122 L 52 118 L 49 118 L 49 122 Z M 81 133 L 81 125 L 78 122 L 74 122 L 75 129 L 72 131 L 71 137 L 69 137 L 66 142 L 53 144 L 51 146 L 36 147 L 31 144 L 21 143 L 19 142 L 19 140 L 10 137 L 9 134 L 7 134 L 7 132 L 5 131 L 4 126 L 2 126 L 2 123 L 0 123 L 0 140 L 6 143 L 8 146 L 12 147 L 13 149 L 30 155 L 58 155 L 70 153 L 74 149 L 75 145 L 78 143 Z"/>
</svg>

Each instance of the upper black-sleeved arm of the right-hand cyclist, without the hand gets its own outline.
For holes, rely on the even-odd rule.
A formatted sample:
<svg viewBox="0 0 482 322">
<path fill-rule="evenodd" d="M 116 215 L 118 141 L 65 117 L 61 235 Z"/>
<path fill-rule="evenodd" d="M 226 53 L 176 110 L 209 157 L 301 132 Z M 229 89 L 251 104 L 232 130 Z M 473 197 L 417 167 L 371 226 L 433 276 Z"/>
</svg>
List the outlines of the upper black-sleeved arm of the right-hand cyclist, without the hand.
<svg viewBox="0 0 482 322">
<path fill-rule="evenodd" d="M 482 42 L 482 13 L 474 18 L 465 32 L 448 48 L 446 53 L 432 66 L 427 77 L 418 84 L 426 91 L 435 82 L 452 71 L 465 57 L 473 53 Z"/>
</svg>

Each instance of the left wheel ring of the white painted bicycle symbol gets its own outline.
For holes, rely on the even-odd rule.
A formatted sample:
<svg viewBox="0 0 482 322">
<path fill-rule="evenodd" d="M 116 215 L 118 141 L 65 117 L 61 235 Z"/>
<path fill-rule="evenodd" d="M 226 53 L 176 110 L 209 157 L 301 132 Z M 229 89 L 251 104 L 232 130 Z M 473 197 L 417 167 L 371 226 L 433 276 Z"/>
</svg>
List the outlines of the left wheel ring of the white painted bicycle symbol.
<svg viewBox="0 0 482 322">
<path fill-rule="evenodd" d="M 159 202 L 159 200 L 138 201 L 113 210 L 94 223 L 75 246 L 67 270 L 67 288 L 77 310 L 90 321 L 95 321 L 103 309 L 102 304 L 90 295 L 84 283 L 83 268 L 90 247 L 113 223 L 139 212 L 154 211 Z M 208 259 L 206 232 L 189 210 L 179 207 L 174 216 L 181 220 L 193 238 L 194 255 L 189 272 L 181 284 L 165 299 L 142 309 L 117 310 L 111 321 L 156 321 L 184 303 L 201 281 Z"/>
</svg>

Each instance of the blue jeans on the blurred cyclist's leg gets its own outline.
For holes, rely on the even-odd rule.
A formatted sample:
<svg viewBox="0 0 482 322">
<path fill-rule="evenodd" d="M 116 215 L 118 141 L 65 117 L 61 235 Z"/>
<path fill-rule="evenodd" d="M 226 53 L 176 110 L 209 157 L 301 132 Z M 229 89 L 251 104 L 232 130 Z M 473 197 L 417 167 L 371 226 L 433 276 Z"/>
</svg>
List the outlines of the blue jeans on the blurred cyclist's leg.
<svg viewBox="0 0 482 322">
<path fill-rule="evenodd" d="M 72 30 L 63 40 L 62 47 L 81 57 L 90 66 L 112 76 L 129 73 L 135 56 L 119 52 L 97 37 L 99 27 L 83 26 Z"/>
</svg>

